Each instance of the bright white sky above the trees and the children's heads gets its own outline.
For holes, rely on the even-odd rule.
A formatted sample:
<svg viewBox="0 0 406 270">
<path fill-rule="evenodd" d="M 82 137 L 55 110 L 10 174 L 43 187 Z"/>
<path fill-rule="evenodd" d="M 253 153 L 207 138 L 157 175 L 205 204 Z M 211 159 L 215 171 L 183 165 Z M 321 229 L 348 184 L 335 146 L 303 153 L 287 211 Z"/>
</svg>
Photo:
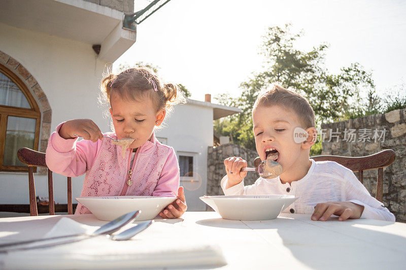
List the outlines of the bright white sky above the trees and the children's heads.
<svg viewBox="0 0 406 270">
<path fill-rule="evenodd" d="M 136 0 L 135 10 L 149 2 Z M 406 1 L 172 0 L 138 25 L 136 43 L 114 65 L 157 65 L 164 80 L 185 85 L 193 99 L 238 96 L 240 83 L 261 70 L 267 27 L 291 22 L 305 32 L 298 49 L 327 42 L 329 71 L 359 62 L 373 71 L 382 95 L 406 81 L 405 14 Z"/>
</svg>

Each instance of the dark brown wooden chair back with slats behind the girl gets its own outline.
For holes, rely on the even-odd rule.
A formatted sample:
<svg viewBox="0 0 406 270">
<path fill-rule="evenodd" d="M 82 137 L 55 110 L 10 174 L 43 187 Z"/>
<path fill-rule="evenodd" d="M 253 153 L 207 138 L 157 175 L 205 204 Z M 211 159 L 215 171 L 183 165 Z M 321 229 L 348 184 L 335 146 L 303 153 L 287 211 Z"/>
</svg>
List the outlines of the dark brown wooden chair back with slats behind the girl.
<svg viewBox="0 0 406 270">
<path fill-rule="evenodd" d="M 46 167 L 48 169 L 48 194 L 49 194 L 49 214 L 55 215 L 54 191 L 52 172 L 45 162 L 45 153 L 37 152 L 29 148 L 20 148 L 17 151 L 18 159 L 28 166 L 28 186 L 29 186 L 29 212 L 31 216 L 38 216 L 37 197 L 35 193 L 33 167 Z M 73 214 L 72 209 L 72 178 L 67 177 L 67 213 Z"/>
</svg>

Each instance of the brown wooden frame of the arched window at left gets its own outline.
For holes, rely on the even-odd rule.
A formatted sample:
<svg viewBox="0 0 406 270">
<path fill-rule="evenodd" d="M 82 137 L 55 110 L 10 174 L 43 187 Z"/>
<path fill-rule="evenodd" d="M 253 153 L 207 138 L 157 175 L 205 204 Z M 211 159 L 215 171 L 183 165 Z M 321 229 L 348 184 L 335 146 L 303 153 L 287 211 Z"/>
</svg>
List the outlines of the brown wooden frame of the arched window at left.
<svg viewBox="0 0 406 270">
<path fill-rule="evenodd" d="M 27 98 L 31 109 L 19 108 L 13 106 L 0 105 L 0 172 L 27 172 L 27 166 L 8 166 L 3 165 L 4 150 L 6 144 L 6 132 L 7 121 L 9 116 L 17 116 L 24 118 L 36 119 L 35 137 L 34 137 L 34 149 L 38 151 L 38 144 L 40 141 L 40 128 L 41 128 L 41 111 L 38 104 L 32 94 L 29 92 L 27 86 L 23 81 L 6 66 L 0 64 L 0 72 L 6 75 L 18 88 L 23 92 L 25 98 Z M 34 172 L 36 172 L 34 167 Z"/>
</svg>

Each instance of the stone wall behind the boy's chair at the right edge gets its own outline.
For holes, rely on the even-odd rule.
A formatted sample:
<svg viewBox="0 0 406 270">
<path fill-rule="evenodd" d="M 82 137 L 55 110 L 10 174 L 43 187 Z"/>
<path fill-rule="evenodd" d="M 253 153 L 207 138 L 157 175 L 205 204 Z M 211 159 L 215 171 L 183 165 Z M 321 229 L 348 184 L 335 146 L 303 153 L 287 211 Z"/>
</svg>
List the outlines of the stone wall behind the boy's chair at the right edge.
<svg viewBox="0 0 406 270">
<path fill-rule="evenodd" d="M 324 124 L 319 132 L 324 136 L 322 155 L 366 156 L 384 149 L 395 151 L 395 161 L 384 168 L 383 203 L 397 221 L 406 221 L 406 109 Z M 363 175 L 363 183 L 373 196 L 377 177 L 378 170 Z"/>
</svg>

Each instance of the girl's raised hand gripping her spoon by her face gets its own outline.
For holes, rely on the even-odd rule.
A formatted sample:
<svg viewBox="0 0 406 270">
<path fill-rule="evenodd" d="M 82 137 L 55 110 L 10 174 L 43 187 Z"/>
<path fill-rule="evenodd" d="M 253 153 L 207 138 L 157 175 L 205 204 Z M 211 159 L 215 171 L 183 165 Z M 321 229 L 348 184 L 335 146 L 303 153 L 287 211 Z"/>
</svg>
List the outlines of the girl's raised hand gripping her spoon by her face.
<svg viewBox="0 0 406 270">
<path fill-rule="evenodd" d="M 103 133 L 90 119 L 75 119 L 64 122 L 59 129 L 59 136 L 63 139 L 80 136 L 92 142 L 97 142 L 98 139 L 103 140 Z"/>
</svg>

